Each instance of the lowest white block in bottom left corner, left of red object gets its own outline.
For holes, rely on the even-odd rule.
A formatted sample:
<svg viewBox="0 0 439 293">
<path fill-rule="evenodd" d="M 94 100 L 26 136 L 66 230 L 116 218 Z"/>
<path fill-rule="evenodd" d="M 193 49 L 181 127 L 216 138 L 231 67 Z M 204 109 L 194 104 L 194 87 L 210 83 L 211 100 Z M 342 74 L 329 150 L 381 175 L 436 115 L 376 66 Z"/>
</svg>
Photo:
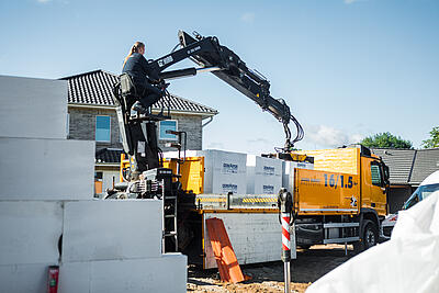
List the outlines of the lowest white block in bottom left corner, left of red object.
<svg viewBox="0 0 439 293">
<path fill-rule="evenodd" d="M 47 270 L 53 264 L 56 263 L 0 266 L 0 292 L 46 293 Z"/>
</svg>

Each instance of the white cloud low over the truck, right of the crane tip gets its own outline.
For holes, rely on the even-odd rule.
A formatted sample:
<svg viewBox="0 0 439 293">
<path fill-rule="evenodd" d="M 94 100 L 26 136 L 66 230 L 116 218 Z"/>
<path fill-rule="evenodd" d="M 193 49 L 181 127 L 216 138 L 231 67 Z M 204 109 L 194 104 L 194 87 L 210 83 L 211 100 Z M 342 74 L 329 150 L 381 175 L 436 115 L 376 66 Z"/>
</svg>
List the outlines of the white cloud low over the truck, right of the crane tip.
<svg viewBox="0 0 439 293">
<path fill-rule="evenodd" d="M 340 147 L 359 143 L 363 136 L 361 134 L 348 134 L 327 125 L 313 125 L 306 128 L 305 138 L 318 145 L 318 147 Z"/>
</svg>

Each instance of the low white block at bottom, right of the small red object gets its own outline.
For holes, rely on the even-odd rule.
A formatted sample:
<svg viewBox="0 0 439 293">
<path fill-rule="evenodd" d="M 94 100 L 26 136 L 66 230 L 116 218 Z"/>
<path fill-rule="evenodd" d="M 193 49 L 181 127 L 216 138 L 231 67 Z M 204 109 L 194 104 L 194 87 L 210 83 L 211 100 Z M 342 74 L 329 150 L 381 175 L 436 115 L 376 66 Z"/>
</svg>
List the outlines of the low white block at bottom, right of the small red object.
<svg viewBox="0 0 439 293">
<path fill-rule="evenodd" d="M 60 293 L 187 292 L 188 259 L 181 253 L 135 260 L 63 263 Z"/>
</svg>

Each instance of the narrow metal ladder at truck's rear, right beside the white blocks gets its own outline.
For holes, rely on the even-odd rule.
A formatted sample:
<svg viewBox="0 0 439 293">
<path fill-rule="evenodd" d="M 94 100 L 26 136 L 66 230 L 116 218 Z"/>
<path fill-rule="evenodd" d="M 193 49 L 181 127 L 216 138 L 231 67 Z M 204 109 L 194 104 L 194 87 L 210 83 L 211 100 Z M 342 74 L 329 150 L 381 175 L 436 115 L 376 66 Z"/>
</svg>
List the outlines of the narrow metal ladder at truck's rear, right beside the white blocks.
<svg viewBox="0 0 439 293">
<path fill-rule="evenodd" d="M 178 234 L 177 234 L 177 196 L 176 194 L 167 195 L 165 192 L 165 180 L 161 180 L 161 213 L 164 215 L 162 235 L 161 235 L 161 252 L 177 252 L 178 251 Z M 169 221 L 171 219 L 171 221 Z M 167 249 L 167 241 L 169 237 L 173 237 L 173 249 Z M 168 241 L 169 244 L 169 241 Z"/>
</svg>

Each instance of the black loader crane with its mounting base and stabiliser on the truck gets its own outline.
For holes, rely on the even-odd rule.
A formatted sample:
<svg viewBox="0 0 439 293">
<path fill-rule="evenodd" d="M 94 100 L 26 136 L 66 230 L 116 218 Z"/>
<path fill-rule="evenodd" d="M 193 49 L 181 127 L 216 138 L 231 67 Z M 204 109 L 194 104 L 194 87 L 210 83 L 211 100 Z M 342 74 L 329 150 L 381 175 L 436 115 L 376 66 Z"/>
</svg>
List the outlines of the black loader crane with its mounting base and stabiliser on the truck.
<svg viewBox="0 0 439 293">
<path fill-rule="evenodd" d="M 156 60 L 149 61 L 149 81 L 166 88 L 169 80 L 181 77 L 195 76 L 199 72 L 212 72 L 226 83 L 230 84 L 244 95 L 255 101 L 263 111 L 271 113 L 283 125 L 285 143 L 277 148 L 279 157 L 292 158 L 291 150 L 294 144 L 303 138 L 303 128 L 291 114 L 290 108 L 283 99 L 274 99 L 270 94 L 270 82 L 257 70 L 247 67 L 238 55 L 219 44 L 215 36 L 201 36 L 198 33 L 192 37 L 180 31 L 179 49 L 172 50 Z M 191 59 L 198 67 L 166 70 L 170 66 Z M 165 91 L 166 94 L 169 92 Z M 115 184 L 108 192 L 108 199 L 159 199 L 164 205 L 164 252 L 181 251 L 189 246 L 193 237 L 193 227 L 185 225 L 193 221 L 191 211 L 196 210 L 195 194 L 183 188 L 180 179 L 181 168 L 187 161 L 180 155 L 171 161 L 166 161 L 157 143 L 156 122 L 170 119 L 169 106 L 166 110 L 166 99 L 161 99 L 161 111 L 158 114 L 134 113 L 131 108 L 139 97 L 128 75 L 122 75 L 120 82 L 113 90 L 113 100 L 116 104 L 123 148 L 127 158 L 122 160 L 122 182 Z M 293 122 L 296 135 L 293 138 L 289 123 Z M 184 132 L 170 132 L 178 137 L 173 146 L 184 150 Z M 166 168 L 167 167 L 167 168 Z M 275 195 L 274 203 L 277 202 Z M 201 199 L 202 200 L 202 199 Z M 200 202 L 200 199 L 199 199 Z M 277 206 L 270 203 L 271 211 Z"/>
</svg>

